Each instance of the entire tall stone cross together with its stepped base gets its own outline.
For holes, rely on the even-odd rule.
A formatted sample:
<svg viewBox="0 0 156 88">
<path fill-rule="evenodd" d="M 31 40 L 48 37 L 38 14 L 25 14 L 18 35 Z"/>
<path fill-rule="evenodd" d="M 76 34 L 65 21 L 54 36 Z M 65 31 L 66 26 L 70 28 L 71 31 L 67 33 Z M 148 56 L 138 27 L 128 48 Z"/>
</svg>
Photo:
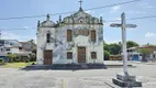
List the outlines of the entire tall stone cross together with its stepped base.
<svg viewBox="0 0 156 88">
<path fill-rule="evenodd" d="M 127 72 L 127 52 L 126 52 L 126 28 L 136 28 L 136 24 L 126 24 L 125 13 L 121 14 L 121 24 L 112 23 L 112 28 L 122 29 L 122 59 L 123 59 L 123 74 L 116 75 L 116 79 L 113 79 L 113 84 L 121 87 L 142 87 L 142 82 L 136 81 L 135 76 L 130 76 Z"/>
</svg>

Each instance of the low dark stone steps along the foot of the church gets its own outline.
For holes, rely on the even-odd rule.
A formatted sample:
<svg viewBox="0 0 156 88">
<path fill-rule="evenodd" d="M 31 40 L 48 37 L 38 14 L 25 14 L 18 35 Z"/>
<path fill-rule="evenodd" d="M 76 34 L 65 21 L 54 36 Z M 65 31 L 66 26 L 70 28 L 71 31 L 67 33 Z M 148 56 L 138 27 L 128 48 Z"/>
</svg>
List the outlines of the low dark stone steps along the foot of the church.
<svg viewBox="0 0 156 88">
<path fill-rule="evenodd" d="M 23 70 L 38 69 L 105 69 L 104 64 L 54 64 L 54 65 L 31 65 L 22 68 Z"/>
</svg>

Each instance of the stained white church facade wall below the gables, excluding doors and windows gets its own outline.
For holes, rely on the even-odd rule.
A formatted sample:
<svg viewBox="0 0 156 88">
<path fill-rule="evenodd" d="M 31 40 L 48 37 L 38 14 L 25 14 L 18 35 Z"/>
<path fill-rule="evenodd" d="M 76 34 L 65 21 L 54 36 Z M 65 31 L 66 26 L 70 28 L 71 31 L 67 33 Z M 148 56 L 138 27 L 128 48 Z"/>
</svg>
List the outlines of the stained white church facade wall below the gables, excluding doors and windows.
<svg viewBox="0 0 156 88">
<path fill-rule="evenodd" d="M 66 32 L 67 30 L 96 30 L 97 32 L 97 42 L 90 43 L 90 36 L 78 35 L 73 37 L 74 47 L 70 51 L 66 48 L 70 47 L 70 43 L 66 42 Z M 102 25 L 89 25 L 89 24 L 75 24 L 75 25 L 64 25 L 57 29 L 54 28 L 40 28 L 37 31 L 37 64 L 43 64 L 43 51 L 41 50 L 46 42 L 46 34 L 51 32 L 53 35 L 56 34 L 56 40 L 63 42 L 60 45 L 58 43 L 58 48 L 52 44 L 45 45 L 45 50 L 53 50 L 56 53 L 53 53 L 53 64 L 67 64 L 67 63 L 78 63 L 77 61 L 77 48 L 78 46 L 86 47 L 86 61 L 87 63 L 103 63 L 103 28 Z M 101 38 L 101 40 L 100 40 Z M 62 51 L 60 51 L 62 50 Z M 73 59 L 67 59 L 67 52 L 73 52 Z M 97 52 L 97 59 L 92 59 L 90 53 Z"/>
</svg>

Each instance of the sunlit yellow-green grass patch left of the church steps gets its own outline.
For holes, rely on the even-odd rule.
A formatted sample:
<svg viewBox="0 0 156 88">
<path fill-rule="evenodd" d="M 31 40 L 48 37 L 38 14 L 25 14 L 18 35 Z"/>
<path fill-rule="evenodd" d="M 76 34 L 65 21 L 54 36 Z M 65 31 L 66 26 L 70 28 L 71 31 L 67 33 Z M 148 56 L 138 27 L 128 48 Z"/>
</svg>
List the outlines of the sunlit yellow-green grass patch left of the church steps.
<svg viewBox="0 0 156 88">
<path fill-rule="evenodd" d="M 31 62 L 31 63 L 7 63 L 3 66 L 7 67 L 7 68 L 21 68 L 21 67 L 32 65 L 32 63 L 33 62 Z"/>
</svg>

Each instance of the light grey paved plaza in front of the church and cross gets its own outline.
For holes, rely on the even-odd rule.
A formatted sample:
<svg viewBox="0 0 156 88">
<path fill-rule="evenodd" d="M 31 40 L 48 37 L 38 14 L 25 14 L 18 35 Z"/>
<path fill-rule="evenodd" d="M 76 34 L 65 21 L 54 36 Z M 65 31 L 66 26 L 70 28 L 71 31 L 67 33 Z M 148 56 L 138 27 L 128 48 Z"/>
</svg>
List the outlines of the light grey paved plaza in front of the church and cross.
<svg viewBox="0 0 156 88">
<path fill-rule="evenodd" d="M 156 64 L 133 63 L 129 68 L 143 88 L 156 88 Z M 0 67 L 0 88 L 120 88 L 111 82 L 122 68 L 87 70 L 21 70 Z"/>
</svg>

